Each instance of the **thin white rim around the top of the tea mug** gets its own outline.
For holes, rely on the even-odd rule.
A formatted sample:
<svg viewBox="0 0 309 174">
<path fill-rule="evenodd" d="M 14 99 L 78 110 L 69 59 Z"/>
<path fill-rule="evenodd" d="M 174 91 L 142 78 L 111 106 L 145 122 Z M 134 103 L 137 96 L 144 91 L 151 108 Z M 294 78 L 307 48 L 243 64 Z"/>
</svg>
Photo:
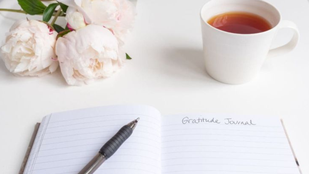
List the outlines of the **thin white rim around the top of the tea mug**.
<svg viewBox="0 0 309 174">
<path fill-rule="evenodd" d="M 276 10 L 276 12 L 278 13 L 278 15 L 279 15 L 279 21 L 277 22 L 277 24 L 276 24 L 275 26 L 273 26 L 271 29 L 266 30 L 266 31 L 263 31 L 263 32 L 260 32 L 260 33 L 240 34 L 240 33 L 231 33 L 231 32 L 227 32 L 227 31 L 223 31 L 223 30 L 220 30 L 220 29 L 215 28 L 215 27 L 213 27 L 212 25 L 208 24 L 208 22 L 205 21 L 204 18 L 202 17 L 202 10 L 204 9 L 204 7 L 205 7 L 208 3 L 212 2 L 212 1 L 218 1 L 218 0 L 210 0 L 210 1 L 206 2 L 206 3 L 201 7 L 201 10 L 200 10 L 200 18 L 201 18 L 201 20 L 203 20 L 204 24 L 206 24 L 206 25 L 209 26 L 210 28 L 213 28 L 213 29 L 215 29 L 216 31 L 219 31 L 219 32 L 222 32 L 222 33 L 232 34 L 232 35 L 237 35 L 237 36 L 254 36 L 254 35 L 260 35 L 260 34 L 264 34 L 264 33 L 268 33 L 268 32 L 273 31 L 275 28 L 277 28 L 277 26 L 279 25 L 279 23 L 280 23 L 280 21 L 281 21 L 281 13 L 280 13 L 280 11 L 279 11 L 275 6 L 273 6 L 273 5 L 270 4 L 269 2 L 266 2 L 266 1 L 263 1 L 263 0 L 251 0 L 251 1 L 256 1 L 256 2 L 264 2 L 264 3 L 266 3 L 267 5 L 273 7 L 273 8 Z M 267 19 L 266 19 L 266 20 L 267 20 Z"/>
</svg>

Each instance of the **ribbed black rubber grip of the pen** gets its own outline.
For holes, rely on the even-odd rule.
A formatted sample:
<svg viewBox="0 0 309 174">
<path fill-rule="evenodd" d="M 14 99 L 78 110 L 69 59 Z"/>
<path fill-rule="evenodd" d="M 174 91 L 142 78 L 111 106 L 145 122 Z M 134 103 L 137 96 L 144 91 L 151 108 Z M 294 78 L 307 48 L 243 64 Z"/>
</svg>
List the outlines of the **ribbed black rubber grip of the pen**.
<svg viewBox="0 0 309 174">
<path fill-rule="evenodd" d="M 130 126 L 123 126 L 110 140 L 104 144 L 104 146 L 100 149 L 100 153 L 108 159 L 118 150 L 122 143 L 130 137 L 132 132 L 133 130 Z"/>
</svg>

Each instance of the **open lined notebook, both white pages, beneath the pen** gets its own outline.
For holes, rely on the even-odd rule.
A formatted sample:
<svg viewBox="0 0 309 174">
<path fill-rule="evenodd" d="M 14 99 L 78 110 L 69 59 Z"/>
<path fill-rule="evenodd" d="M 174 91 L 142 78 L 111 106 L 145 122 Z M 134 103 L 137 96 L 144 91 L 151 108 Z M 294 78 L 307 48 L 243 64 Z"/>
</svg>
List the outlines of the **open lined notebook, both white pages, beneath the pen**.
<svg viewBox="0 0 309 174">
<path fill-rule="evenodd" d="M 108 106 L 45 116 L 24 174 L 77 174 L 137 117 L 132 136 L 96 174 L 300 173 L 279 118 Z"/>
</svg>

